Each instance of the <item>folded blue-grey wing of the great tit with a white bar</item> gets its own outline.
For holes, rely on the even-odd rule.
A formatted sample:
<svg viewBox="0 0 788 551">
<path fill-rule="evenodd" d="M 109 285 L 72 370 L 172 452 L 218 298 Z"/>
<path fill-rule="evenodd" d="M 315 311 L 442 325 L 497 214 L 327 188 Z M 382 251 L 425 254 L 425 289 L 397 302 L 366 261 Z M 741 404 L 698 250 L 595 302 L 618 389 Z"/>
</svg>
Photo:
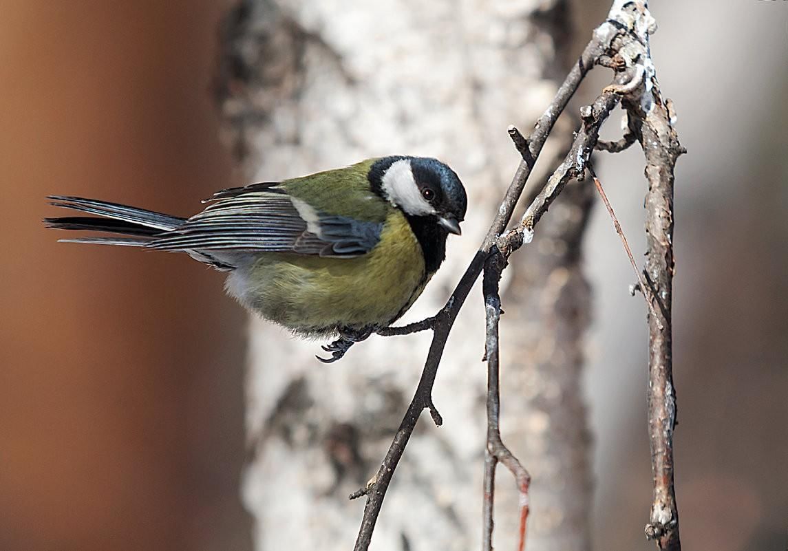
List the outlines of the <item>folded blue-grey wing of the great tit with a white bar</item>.
<svg viewBox="0 0 788 551">
<path fill-rule="evenodd" d="M 293 252 L 358 257 L 380 240 L 382 223 L 320 213 L 281 188 L 229 190 L 146 246 L 158 250 Z M 260 189 L 259 187 L 257 189 Z"/>
</svg>

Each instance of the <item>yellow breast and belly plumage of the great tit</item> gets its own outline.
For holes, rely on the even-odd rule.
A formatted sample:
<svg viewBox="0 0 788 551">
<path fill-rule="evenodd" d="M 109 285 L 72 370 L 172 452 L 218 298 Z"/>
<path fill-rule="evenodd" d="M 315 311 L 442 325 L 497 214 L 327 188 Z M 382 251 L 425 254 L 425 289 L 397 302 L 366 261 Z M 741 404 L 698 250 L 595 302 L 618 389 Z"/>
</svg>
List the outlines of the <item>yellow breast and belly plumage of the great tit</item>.
<svg viewBox="0 0 788 551">
<path fill-rule="evenodd" d="M 231 275 L 228 288 L 267 319 L 322 335 L 336 327 L 385 327 L 425 284 L 421 246 L 405 216 L 392 210 L 380 242 L 361 257 L 262 253 L 246 273 Z"/>
</svg>

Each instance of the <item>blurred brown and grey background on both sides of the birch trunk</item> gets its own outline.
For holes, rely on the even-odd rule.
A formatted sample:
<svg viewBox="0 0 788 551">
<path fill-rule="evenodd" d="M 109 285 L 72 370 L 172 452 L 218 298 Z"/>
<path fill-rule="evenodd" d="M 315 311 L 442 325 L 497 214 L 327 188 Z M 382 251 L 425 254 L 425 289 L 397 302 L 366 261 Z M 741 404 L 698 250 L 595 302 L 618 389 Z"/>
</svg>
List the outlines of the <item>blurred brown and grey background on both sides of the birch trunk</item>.
<svg viewBox="0 0 788 551">
<path fill-rule="evenodd" d="M 2 551 L 251 548 L 237 490 L 244 316 L 221 276 L 180 255 L 58 245 L 39 224 L 46 194 L 189 214 L 239 183 L 210 93 L 231 3 L 2 3 Z M 581 33 L 607 8 L 583 4 Z M 689 149 L 676 192 L 682 537 L 784 549 L 788 2 L 653 10 Z M 636 251 L 641 166 L 631 150 L 600 172 Z M 650 549 L 645 313 L 601 209 L 586 255 L 595 540 Z"/>
</svg>

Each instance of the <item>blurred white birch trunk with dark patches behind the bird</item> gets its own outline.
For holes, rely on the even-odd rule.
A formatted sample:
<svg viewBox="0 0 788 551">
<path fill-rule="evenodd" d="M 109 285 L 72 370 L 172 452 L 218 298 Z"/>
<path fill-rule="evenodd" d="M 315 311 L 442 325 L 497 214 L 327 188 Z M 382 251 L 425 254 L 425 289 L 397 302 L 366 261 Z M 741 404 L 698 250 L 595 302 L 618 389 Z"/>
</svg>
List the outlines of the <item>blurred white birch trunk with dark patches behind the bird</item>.
<svg viewBox="0 0 788 551">
<path fill-rule="evenodd" d="M 284 179 L 385 154 L 440 157 L 470 196 L 462 239 L 412 321 L 433 314 L 481 242 L 518 159 L 508 124 L 528 128 L 563 78 L 564 2 L 246 0 L 226 19 L 217 93 L 247 181 Z M 567 146 L 559 127 L 545 150 Z M 539 176 L 538 174 L 535 176 Z M 579 390 L 588 289 L 579 243 L 585 187 L 556 203 L 504 281 L 504 440 L 533 475 L 533 549 L 587 549 L 588 438 Z M 484 312 L 474 293 L 434 394 L 444 426 L 417 427 L 373 549 L 473 549 L 481 541 Z M 366 483 L 422 368 L 428 335 L 373 337 L 342 361 L 251 321 L 250 459 L 243 498 L 257 549 L 350 549 Z M 515 540 L 514 483 L 502 472 L 496 547 Z"/>
</svg>

